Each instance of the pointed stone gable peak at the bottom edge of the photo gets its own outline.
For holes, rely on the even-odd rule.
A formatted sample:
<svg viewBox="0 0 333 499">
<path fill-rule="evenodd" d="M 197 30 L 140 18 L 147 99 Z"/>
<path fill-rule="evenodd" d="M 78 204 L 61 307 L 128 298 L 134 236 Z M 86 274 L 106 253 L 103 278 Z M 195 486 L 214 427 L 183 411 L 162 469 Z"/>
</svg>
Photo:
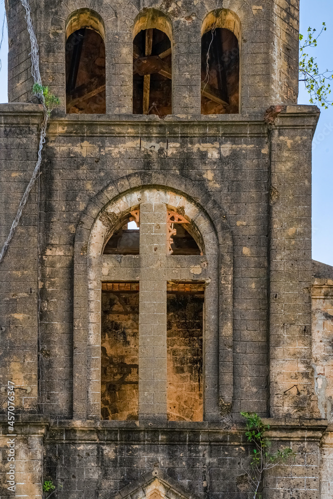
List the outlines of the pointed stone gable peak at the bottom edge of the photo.
<svg viewBox="0 0 333 499">
<path fill-rule="evenodd" d="M 147 473 L 139 480 L 127 485 L 114 499 L 198 499 L 185 487 L 159 469 Z"/>
</svg>

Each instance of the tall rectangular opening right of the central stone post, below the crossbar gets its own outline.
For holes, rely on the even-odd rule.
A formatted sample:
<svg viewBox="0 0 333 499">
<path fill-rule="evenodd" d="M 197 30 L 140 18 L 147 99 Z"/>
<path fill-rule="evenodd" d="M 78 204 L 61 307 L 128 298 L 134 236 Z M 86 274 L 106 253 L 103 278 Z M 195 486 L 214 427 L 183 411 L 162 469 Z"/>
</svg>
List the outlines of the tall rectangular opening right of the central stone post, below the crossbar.
<svg viewBox="0 0 333 499">
<path fill-rule="evenodd" d="M 184 286 L 177 291 L 173 283 L 167 293 L 167 416 L 203 421 L 204 292 L 183 292 Z"/>
</svg>

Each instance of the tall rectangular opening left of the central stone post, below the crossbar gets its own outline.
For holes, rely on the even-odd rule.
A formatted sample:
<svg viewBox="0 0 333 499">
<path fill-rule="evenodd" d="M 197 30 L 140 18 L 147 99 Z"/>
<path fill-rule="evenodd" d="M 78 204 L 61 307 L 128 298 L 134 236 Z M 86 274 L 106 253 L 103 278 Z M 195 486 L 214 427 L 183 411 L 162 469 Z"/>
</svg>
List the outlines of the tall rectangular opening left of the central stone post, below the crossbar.
<svg viewBox="0 0 333 499">
<path fill-rule="evenodd" d="M 103 285 L 104 284 L 104 285 Z M 137 420 L 139 407 L 139 292 L 102 284 L 101 419 Z M 113 288 L 126 288 L 124 283 Z M 104 290 L 103 290 L 104 288 Z"/>
</svg>

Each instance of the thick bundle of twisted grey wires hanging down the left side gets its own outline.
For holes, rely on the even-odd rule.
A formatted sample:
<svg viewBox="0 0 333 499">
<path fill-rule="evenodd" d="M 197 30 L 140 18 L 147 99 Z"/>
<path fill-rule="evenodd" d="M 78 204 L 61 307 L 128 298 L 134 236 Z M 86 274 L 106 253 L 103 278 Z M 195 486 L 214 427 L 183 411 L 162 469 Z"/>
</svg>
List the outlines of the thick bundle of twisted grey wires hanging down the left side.
<svg viewBox="0 0 333 499">
<path fill-rule="evenodd" d="M 34 34 L 33 26 L 32 26 L 31 10 L 30 10 L 29 1 L 28 0 L 20 0 L 20 2 L 21 2 L 22 6 L 24 8 L 24 11 L 25 11 L 24 18 L 25 18 L 25 21 L 27 24 L 27 29 L 28 29 L 30 43 L 31 43 L 31 53 L 30 53 L 30 55 L 31 55 L 31 74 L 32 74 L 34 83 L 37 83 L 40 87 L 42 87 L 40 71 L 39 71 L 38 44 L 37 44 L 36 36 Z M 17 210 L 16 216 L 14 218 L 14 221 L 11 225 L 8 237 L 5 240 L 3 247 L 0 251 L 0 263 L 3 260 L 3 257 L 6 253 L 6 251 L 8 250 L 10 241 L 12 240 L 13 235 L 15 234 L 15 230 L 18 226 L 19 220 L 21 218 L 23 209 L 24 209 L 26 202 L 28 200 L 31 189 L 33 188 L 33 186 L 36 182 L 36 179 L 39 175 L 39 170 L 40 170 L 40 165 L 41 165 L 41 152 L 43 149 L 43 145 L 45 143 L 46 128 L 47 128 L 47 123 L 49 120 L 49 113 L 48 113 L 48 109 L 46 108 L 46 105 L 45 105 L 44 95 L 37 94 L 36 96 L 40 99 L 41 104 L 43 106 L 43 110 L 44 110 L 43 120 L 42 120 L 42 123 L 40 126 L 37 162 L 36 162 L 36 166 L 34 167 L 30 182 L 28 183 L 28 185 L 25 189 L 25 192 L 23 194 L 23 197 L 19 203 L 18 210 Z"/>
</svg>

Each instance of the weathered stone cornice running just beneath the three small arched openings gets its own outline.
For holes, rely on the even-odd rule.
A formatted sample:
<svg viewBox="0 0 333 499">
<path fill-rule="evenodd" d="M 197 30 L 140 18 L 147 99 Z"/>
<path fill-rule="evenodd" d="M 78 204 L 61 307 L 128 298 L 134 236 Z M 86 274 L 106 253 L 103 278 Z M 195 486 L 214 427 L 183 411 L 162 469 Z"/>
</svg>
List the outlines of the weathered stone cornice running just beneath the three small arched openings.
<svg viewBox="0 0 333 499">
<path fill-rule="evenodd" d="M 269 128 L 310 128 L 315 130 L 319 109 L 316 106 L 288 105 L 273 125 L 264 121 L 262 112 L 251 115 L 93 115 L 54 113 L 48 136 L 118 137 L 265 137 Z M 0 104 L 0 126 L 38 125 L 42 106 L 31 103 Z"/>
</svg>

